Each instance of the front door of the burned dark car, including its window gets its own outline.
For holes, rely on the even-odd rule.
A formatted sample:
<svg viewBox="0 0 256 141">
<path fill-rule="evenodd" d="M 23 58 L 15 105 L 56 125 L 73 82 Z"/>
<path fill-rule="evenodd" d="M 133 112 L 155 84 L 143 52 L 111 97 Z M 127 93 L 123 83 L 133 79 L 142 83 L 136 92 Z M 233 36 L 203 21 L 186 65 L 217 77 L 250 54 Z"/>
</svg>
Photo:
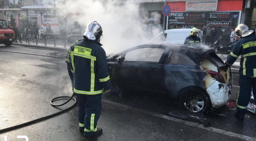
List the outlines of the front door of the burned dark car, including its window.
<svg viewBox="0 0 256 141">
<path fill-rule="evenodd" d="M 114 82 L 121 87 L 156 91 L 163 66 L 164 48 L 143 46 L 123 54 L 114 68 Z"/>
</svg>

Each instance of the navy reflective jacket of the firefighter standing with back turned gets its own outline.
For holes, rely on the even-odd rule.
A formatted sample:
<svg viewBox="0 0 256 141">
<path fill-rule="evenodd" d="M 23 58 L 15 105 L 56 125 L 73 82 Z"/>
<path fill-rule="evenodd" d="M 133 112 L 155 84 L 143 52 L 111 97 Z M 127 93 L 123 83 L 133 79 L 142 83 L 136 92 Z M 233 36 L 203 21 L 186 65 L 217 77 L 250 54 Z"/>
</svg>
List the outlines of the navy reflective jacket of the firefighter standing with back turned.
<svg viewBox="0 0 256 141">
<path fill-rule="evenodd" d="M 66 62 L 75 93 L 95 95 L 111 89 L 106 53 L 101 46 L 96 40 L 80 39 L 70 47 Z"/>
</svg>

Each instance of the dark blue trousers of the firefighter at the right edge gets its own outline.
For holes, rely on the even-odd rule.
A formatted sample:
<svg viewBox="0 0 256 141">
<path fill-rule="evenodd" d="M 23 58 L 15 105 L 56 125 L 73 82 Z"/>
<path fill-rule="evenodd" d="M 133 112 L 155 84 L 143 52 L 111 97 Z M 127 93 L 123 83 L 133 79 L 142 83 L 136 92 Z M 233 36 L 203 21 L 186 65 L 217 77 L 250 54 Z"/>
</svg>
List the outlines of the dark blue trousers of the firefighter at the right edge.
<svg viewBox="0 0 256 141">
<path fill-rule="evenodd" d="M 256 102 L 256 78 L 240 75 L 239 86 L 239 95 L 236 101 L 237 112 L 239 115 L 244 116 L 246 114 L 246 107 L 251 97 L 252 88 L 254 101 Z"/>
</svg>

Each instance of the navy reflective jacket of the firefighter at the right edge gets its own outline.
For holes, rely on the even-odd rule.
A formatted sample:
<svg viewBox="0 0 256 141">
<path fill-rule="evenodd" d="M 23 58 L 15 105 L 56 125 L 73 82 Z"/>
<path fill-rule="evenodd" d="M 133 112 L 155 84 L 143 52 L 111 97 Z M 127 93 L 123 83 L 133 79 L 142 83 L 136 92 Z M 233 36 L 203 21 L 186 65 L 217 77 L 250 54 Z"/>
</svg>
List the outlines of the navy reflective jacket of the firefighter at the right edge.
<svg viewBox="0 0 256 141">
<path fill-rule="evenodd" d="M 235 44 L 232 52 L 228 54 L 227 64 L 232 65 L 238 56 L 241 55 L 240 75 L 256 77 L 256 35 L 251 34 L 242 37 Z"/>
</svg>

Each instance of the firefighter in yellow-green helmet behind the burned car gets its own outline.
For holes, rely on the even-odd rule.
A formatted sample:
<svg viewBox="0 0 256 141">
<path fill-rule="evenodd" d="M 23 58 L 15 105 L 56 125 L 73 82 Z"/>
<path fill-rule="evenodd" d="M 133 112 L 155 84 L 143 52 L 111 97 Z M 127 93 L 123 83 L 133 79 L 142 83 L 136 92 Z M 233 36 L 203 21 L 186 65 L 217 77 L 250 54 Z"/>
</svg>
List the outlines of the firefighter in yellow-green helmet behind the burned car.
<svg viewBox="0 0 256 141">
<path fill-rule="evenodd" d="M 197 37 L 198 29 L 193 27 L 190 32 L 190 36 L 186 37 L 184 44 L 195 45 L 201 42 L 201 39 Z"/>
</svg>

